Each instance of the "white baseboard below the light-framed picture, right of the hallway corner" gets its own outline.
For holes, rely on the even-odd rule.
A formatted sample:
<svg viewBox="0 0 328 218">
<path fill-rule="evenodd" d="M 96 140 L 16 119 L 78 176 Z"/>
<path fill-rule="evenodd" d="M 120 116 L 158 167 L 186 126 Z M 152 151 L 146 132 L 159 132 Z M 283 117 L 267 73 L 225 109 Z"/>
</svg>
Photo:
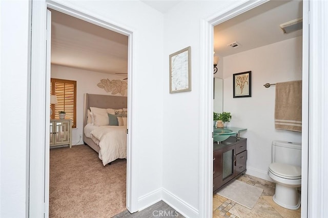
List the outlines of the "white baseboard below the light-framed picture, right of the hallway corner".
<svg viewBox="0 0 328 218">
<path fill-rule="evenodd" d="M 182 201 L 165 188 L 162 189 L 162 200 L 185 217 L 199 217 L 199 211 L 196 208 Z"/>
</svg>

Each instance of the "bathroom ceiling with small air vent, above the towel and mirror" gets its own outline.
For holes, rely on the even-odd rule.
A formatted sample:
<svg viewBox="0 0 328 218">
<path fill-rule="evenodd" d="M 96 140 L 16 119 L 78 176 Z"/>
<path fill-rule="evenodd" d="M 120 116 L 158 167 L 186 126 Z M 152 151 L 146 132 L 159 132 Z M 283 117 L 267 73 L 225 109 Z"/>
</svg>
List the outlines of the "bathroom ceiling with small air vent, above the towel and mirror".
<svg viewBox="0 0 328 218">
<path fill-rule="evenodd" d="M 215 56 L 228 56 L 302 35 L 283 34 L 279 25 L 302 17 L 302 2 L 270 1 L 214 27 Z M 241 46 L 231 48 L 232 42 Z"/>
</svg>

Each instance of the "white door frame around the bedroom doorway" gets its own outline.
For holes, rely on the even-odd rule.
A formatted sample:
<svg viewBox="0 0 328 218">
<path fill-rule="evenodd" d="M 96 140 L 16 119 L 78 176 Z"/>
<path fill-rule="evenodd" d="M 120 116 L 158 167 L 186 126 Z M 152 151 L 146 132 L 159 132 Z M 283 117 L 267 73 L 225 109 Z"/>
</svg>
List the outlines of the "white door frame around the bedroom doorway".
<svg viewBox="0 0 328 218">
<path fill-rule="evenodd" d="M 30 162 L 29 162 L 29 216 L 49 216 L 49 107 L 50 95 L 47 81 L 50 80 L 50 70 L 47 70 L 46 40 L 47 40 L 47 8 L 91 22 L 97 26 L 126 35 L 128 40 L 128 128 L 133 117 L 133 31 L 124 25 L 113 24 L 99 17 L 98 14 L 86 11 L 68 2 L 53 2 L 47 0 L 32 0 L 32 36 L 31 36 L 31 77 L 30 77 Z M 46 73 L 45 73 L 46 72 Z M 126 206 L 130 212 L 137 210 L 136 180 L 132 177 L 132 134 L 127 135 L 127 195 Z"/>
</svg>

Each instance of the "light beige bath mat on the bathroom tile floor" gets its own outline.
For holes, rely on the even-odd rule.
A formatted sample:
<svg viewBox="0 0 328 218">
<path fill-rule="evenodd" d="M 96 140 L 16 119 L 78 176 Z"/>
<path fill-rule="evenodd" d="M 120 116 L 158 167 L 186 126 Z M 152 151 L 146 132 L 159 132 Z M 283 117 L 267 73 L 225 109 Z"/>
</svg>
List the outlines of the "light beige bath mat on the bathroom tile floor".
<svg viewBox="0 0 328 218">
<path fill-rule="evenodd" d="M 262 192 L 262 188 L 235 180 L 219 190 L 217 194 L 244 207 L 253 209 Z"/>
</svg>

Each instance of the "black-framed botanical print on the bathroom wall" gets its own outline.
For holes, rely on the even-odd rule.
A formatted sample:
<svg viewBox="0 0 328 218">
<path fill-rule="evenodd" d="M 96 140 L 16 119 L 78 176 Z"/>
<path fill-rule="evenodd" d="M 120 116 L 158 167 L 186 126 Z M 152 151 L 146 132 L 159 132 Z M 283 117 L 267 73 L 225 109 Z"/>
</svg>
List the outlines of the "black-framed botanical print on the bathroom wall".
<svg viewBox="0 0 328 218">
<path fill-rule="evenodd" d="M 252 71 L 233 74 L 233 97 L 245 98 L 252 96 Z"/>
</svg>

